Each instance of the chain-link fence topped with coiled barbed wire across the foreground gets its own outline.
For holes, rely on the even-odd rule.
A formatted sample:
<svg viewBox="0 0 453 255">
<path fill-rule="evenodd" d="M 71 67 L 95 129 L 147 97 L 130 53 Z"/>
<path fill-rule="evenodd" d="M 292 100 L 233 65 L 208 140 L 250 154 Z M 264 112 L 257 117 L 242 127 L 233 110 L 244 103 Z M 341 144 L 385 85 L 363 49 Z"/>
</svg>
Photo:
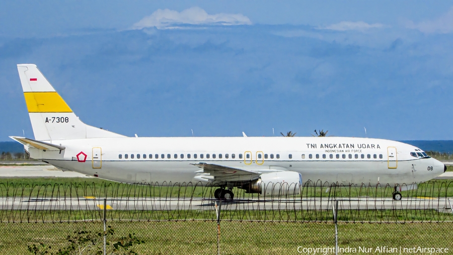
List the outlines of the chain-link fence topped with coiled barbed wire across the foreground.
<svg viewBox="0 0 453 255">
<path fill-rule="evenodd" d="M 390 185 L 321 181 L 305 183 L 296 194 L 234 189 L 234 200 L 217 200 L 216 188 L 200 183 L 0 183 L 0 251 L 445 253 L 453 248 L 452 184 L 397 186 L 402 200 L 392 199 Z"/>
</svg>

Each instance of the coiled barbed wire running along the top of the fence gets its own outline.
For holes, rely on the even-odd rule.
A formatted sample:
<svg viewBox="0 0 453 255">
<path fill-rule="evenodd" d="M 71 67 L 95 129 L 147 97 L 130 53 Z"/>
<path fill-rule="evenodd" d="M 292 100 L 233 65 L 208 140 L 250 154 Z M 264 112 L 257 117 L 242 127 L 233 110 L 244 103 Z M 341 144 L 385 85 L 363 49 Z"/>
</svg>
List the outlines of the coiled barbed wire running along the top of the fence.
<svg viewBox="0 0 453 255">
<path fill-rule="evenodd" d="M 417 187 L 414 189 L 414 187 Z M 234 200 L 214 198 L 218 187 L 188 183 L 0 183 L 0 222 L 79 222 L 103 218 L 117 221 L 221 220 L 330 222 L 338 202 L 340 222 L 453 221 L 453 181 L 370 185 L 307 181 L 294 188 L 268 183 L 262 194 L 234 188 Z M 401 200 L 393 200 L 395 191 Z"/>
</svg>

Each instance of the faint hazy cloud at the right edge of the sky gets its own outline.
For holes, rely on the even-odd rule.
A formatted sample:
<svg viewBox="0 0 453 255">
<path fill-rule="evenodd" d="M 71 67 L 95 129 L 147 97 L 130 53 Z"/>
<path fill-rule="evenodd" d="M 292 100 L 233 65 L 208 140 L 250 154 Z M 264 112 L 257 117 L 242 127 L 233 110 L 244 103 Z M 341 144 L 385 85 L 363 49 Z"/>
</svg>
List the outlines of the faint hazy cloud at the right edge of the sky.
<svg viewBox="0 0 453 255">
<path fill-rule="evenodd" d="M 408 21 L 406 27 L 417 29 L 423 33 L 451 33 L 453 32 L 453 7 L 436 20 L 423 21 L 418 24 Z"/>
</svg>

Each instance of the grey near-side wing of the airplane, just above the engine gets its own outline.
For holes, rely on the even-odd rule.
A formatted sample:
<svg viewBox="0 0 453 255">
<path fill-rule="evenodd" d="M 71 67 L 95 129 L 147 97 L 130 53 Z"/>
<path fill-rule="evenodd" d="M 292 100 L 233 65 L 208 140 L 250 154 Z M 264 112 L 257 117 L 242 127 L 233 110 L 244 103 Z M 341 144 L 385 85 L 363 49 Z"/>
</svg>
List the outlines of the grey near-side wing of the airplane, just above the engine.
<svg viewBox="0 0 453 255">
<path fill-rule="evenodd" d="M 198 176 L 198 179 L 211 182 L 254 180 L 262 174 L 258 171 L 204 162 L 191 165 L 202 168 L 202 170 L 196 171 L 197 173 L 202 173 Z"/>
</svg>

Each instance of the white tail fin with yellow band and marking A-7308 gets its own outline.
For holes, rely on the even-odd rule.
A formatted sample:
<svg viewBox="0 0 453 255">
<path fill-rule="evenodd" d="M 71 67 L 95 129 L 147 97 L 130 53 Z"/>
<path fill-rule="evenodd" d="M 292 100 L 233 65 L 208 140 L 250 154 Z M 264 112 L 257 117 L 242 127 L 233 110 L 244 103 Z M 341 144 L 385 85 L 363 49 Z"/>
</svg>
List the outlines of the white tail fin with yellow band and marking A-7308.
<svg viewBox="0 0 453 255">
<path fill-rule="evenodd" d="M 124 137 L 82 122 L 36 65 L 20 64 L 17 69 L 36 140 Z"/>
</svg>

